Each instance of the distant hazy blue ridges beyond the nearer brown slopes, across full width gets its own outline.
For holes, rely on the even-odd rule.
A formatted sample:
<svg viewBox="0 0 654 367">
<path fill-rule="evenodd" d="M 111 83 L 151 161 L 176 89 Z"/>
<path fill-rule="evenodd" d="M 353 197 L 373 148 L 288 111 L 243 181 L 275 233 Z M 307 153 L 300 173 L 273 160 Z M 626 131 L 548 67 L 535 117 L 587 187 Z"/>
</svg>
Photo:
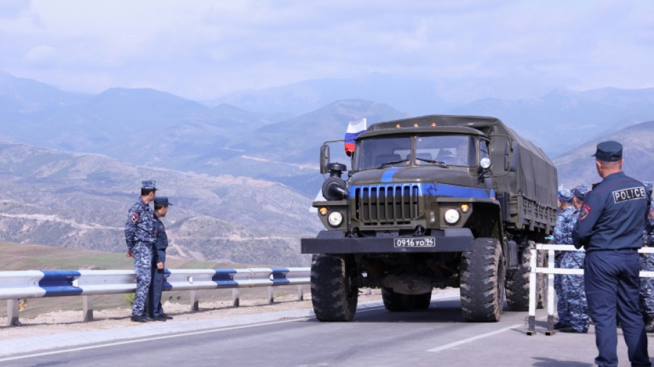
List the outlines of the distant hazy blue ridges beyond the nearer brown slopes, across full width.
<svg viewBox="0 0 654 367">
<path fill-rule="evenodd" d="M 474 87 L 470 81 L 466 85 Z M 347 123 L 357 118 L 375 123 L 414 116 L 400 111 L 418 110 L 497 116 L 549 156 L 654 120 L 654 88 L 554 90 L 540 98 L 486 98 L 452 107 L 439 99 L 446 92 L 442 87 L 372 74 L 242 92 L 209 107 L 149 89 L 67 94 L 0 74 L 0 141 L 105 154 L 134 165 L 210 176 L 275 180 L 313 198 L 322 180 L 317 174 L 319 145 L 343 138 Z M 257 112 L 263 110 L 282 112 Z"/>
</svg>

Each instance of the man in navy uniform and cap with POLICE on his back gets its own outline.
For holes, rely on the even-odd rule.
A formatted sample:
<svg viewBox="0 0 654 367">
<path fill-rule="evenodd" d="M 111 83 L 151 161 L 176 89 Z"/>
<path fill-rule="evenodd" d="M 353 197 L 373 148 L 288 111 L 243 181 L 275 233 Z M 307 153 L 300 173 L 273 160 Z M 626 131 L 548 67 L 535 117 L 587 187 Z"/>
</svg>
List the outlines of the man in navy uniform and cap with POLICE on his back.
<svg viewBox="0 0 654 367">
<path fill-rule="evenodd" d="M 620 320 L 631 366 L 651 366 L 642 315 L 638 311 L 638 249 L 650 205 L 642 182 L 622 172 L 622 145 L 597 145 L 595 167 L 602 177 L 586 195 L 572 233 L 586 249 L 584 286 L 593 322 L 598 366 L 618 366 Z"/>
</svg>

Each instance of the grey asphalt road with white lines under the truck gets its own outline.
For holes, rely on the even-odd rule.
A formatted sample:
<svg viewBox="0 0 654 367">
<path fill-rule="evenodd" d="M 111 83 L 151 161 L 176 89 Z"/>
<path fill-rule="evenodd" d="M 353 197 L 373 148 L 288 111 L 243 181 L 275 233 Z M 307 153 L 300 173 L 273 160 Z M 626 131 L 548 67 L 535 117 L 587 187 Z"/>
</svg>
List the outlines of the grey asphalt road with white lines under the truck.
<svg viewBox="0 0 654 367">
<path fill-rule="evenodd" d="M 31 348 L 0 343 L 13 348 L 0 354 L 0 366 L 593 366 L 592 326 L 588 334 L 547 336 L 539 310 L 540 333 L 528 336 L 526 317 L 505 311 L 500 322 L 463 322 L 458 293 L 445 293 L 411 313 L 363 304 L 353 322 L 318 322 L 304 310 L 25 341 Z M 628 366 L 621 333 L 618 351 Z"/>
</svg>

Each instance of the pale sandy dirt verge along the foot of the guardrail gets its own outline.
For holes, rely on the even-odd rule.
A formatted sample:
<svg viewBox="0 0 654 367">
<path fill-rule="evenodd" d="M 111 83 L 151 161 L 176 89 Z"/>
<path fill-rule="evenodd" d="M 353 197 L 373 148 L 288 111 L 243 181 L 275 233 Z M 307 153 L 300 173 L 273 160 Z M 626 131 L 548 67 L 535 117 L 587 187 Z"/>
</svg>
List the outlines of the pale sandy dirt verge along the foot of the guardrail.
<svg viewBox="0 0 654 367">
<path fill-rule="evenodd" d="M 434 290 L 434 293 L 438 291 Z M 312 308 L 310 293 L 304 294 L 303 301 L 297 301 L 297 294 L 275 296 L 274 300 L 273 304 L 268 304 L 266 299 L 246 300 L 240 298 L 240 306 L 233 307 L 231 300 L 202 302 L 202 299 L 200 299 L 200 310 L 195 312 L 190 311 L 189 304 L 167 301 L 162 306 L 167 315 L 173 317 L 167 322 L 215 319 L 299 309 L 306 309 L 308 315 L 308 311 Z M 359 303 L 375 301 L 381 301 L 381 290 L 366 289 L 359 293 Z M 7 326 L 7 317 L 0 317 L 0 340 L 136 326 L 138 323 L 131 322 L 130 315 L 130 308 L 95 310 L 93 313 L 94 321 L 82 322 L 82 311 L 54 311 L 30 318 L 22 317 L 19 314 L 21 326 Z"/>
</svg>

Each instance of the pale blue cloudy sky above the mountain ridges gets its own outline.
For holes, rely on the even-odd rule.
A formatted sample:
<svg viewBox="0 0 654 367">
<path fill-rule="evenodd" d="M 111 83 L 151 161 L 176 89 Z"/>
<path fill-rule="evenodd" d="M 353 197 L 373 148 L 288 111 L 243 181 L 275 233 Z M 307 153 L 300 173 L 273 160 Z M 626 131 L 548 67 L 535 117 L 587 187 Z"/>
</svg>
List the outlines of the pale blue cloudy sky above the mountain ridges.
<svg viewBox="0 0 654 367">
<path fill-rule="evenodd" d="M 646 0 L 2 0 L 0 71 L 196 100 L 375 72 L 487 96 L 654 87 L 651 14 Z"/>
</svg>

